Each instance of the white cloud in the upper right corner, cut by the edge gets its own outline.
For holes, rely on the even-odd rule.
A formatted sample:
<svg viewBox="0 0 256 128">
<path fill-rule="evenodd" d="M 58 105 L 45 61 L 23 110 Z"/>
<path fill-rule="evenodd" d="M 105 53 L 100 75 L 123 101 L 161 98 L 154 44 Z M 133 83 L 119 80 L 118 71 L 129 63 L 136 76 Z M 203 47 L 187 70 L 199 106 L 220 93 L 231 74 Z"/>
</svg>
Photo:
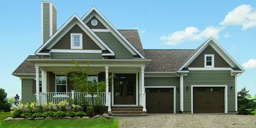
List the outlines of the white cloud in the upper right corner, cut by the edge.
<svg viewBox="0 0 256 128">
<path fill-rule="evenodd" d="M 256 26 L 256 10 L 250 5 L 241 5 L 229 12 L 220 25 L 241 25 L 243 30 Z"/>
</svg>

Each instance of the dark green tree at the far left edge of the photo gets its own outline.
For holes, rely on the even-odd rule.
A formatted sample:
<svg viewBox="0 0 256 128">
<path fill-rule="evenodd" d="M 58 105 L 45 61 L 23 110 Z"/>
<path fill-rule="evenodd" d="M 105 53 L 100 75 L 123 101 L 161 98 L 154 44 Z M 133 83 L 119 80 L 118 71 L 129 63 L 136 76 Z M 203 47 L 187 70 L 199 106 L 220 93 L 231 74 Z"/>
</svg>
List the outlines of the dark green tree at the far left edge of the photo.
<svg viewBox="0 0 256 128">
<path fill-rule="evenodd" d="M 10 112 L 11 103 L 8 102 L 7 93 L 3 88 L 0 88 L 0 110 Z"/>
</svg>

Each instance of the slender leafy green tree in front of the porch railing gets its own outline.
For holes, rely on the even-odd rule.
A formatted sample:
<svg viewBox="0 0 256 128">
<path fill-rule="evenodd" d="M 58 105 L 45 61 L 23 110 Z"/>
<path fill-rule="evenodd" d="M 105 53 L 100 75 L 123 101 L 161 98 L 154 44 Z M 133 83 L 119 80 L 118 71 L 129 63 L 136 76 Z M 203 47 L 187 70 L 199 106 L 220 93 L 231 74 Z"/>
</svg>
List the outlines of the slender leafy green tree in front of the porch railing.
<svg viewBox="0 0 256 128">
<path fill-rule="evenodd" d="M 67 78 L 72 82 L 72 86 L 75 87 L 78 92 L 92 95 L 92 111 L 94 112 L 94 95 L 99 96 L 98 92 L 105 91 L 106 82 L 110 82 L 109 79 L 111 79 L 112 76 L 109 76 L 106 81 L 88 81 L 87 74 L 90 73 L 89 62 L 86 69 L 80 67 L 79 63 L 73 59 L 72 62 L 75 66 L 67 69 L 69 72 Z"/>
</svg>

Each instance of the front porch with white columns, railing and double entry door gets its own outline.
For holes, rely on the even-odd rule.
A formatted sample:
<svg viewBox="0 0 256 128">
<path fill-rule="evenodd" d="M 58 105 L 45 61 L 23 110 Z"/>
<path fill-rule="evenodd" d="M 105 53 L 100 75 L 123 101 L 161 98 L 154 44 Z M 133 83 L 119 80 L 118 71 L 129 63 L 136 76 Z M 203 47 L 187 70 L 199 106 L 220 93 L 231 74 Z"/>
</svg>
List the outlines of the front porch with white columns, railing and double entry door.
<svg viewBox="0 0 256 128">
<path fill-rule="evenodd" d="M 87 68 L 86 62 L 79 62 L 80 67 Z M 35 63 L 36 70 L 36 100 L 57 104 L 64 100 L 84 101 L 92 104 L 89 93 L 77 92 L 63 73 L 65 69 L 73 67 L 71 62 L 66 63 Z M 112 82 L 106 82 L 105 92 L 94 95 L 94 103 L 104 105 L 111 112 L 112 106 L 141 106 L 146 112 L 144 92 L 145 63 L 90 63 L 88 76 L 98 81 L 107 81 L 109 76 L 115 77 Z M 41 72 L 41 75 L 39 74 Z M 60 81 L 59 81 L 60 79 Z M 41 81 L 41 82 L 40 82 Z M 41 84 L 40 84 L 41 83 Z"/>
</svg>

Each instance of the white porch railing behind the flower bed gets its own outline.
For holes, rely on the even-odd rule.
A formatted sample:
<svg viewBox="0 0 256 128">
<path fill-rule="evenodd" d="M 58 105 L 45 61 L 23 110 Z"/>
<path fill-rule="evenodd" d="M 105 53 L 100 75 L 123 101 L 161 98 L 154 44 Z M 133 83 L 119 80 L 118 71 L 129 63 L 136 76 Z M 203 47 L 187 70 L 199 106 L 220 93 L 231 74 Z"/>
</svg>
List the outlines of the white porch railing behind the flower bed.
<svg viewBox="0 0 256 128">
<path fill-rule="evenodd" d="M 105 104 L 106 103 L 106 93 L 98 93 L 99 96 L 96 94 L 93 96 L 94 104 Z M 80 103 L 88 103 L 92 104 L 92 95 L 89 93 L 81 93 L 81 92 L 67 92 L 67 93 L 56 93 L 56 92 L 40 92 L 39 93 L 39 102 L 53 102 L 57 104 L 60 101 L 69 101 L 73 100 L 75 102 Z"/>
</svg>

